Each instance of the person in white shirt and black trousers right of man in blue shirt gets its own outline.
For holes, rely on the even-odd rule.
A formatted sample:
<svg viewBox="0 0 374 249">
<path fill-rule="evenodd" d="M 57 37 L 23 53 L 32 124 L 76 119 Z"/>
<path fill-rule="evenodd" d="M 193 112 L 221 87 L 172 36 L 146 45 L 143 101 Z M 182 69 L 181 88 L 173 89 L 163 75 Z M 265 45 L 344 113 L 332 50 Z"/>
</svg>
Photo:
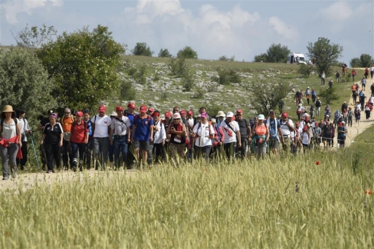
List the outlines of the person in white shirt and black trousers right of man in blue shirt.
<svg viewBox="0 0 374 249">
<path fill-rule="evenodd" d="M 162 115 L 161 115 L 162 116 Z M 161 122 L 160 119 L 160 112 L 155 111 L 152 114 L 153 118 L 153 123 L 154 123 L 154 154 L 155 154 L 155 162 L 160 162 L 162 161 L 162 158 L 165 157 L 165 151 L 164 151 L 164 145 L 165 145 L 165 140 L 166 140 L 166 131 L 165 131 L 165 126 Z"/>
</svg>

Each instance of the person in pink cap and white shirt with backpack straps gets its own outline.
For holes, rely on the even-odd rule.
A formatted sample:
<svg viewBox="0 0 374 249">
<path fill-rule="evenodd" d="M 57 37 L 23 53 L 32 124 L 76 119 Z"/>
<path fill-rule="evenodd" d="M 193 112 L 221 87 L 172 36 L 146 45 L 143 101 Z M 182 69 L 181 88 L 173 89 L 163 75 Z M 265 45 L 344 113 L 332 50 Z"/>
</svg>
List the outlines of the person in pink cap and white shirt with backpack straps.
<svg viewBox="0 0 374 249">
<path fill-rule="evenodd" d="M 202 113 L 200 122 L 195 124 L 193 136 L 195 136 L 195 146 L 197 148 L 197 155 L 203 156 L 205 161 L 209 160 L 209 155 L 212 150 L 212 139 L 214 138 L 213 126 L 208 123 L 208 114 Z"/>
</svg>

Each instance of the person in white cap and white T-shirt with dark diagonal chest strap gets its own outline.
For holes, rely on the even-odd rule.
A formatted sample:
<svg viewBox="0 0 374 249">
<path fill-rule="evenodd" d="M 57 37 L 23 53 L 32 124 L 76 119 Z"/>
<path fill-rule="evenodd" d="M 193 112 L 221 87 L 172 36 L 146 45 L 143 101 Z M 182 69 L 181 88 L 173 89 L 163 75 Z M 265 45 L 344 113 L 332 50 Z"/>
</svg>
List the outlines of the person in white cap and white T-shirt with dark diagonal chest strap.
<svg viewBox="0 0 374 249">
<path fill-rule="evenodd" d="M 235 158 L 235 148 L 237 146 L 237 137 L 240 137 L 239 124 L 232 120 L 233 113 L 228 112 L 226 119 L 219 125 L 224 134 L 223 148 L 228 159 Z M 238 141 L 238 147 L 242 146 L 241 141 Z"/>
</svg>

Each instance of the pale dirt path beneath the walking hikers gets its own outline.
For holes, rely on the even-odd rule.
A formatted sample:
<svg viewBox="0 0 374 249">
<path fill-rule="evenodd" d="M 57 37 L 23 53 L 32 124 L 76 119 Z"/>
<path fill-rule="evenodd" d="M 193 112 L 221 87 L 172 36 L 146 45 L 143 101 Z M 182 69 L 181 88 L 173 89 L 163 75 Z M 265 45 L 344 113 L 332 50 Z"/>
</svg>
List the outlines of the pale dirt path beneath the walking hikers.
<svg viewBox="0 0 374 249">
<path fill-rule="evenodd" d="M 370 77 L 369 77 L 370 78 Z M 368 98 L 371 95 L 370 91 L 370 85 L 374 82 L 374 80 L 368 79 L 366 83 L 366 89 L 365 89 L 365 95 Z M 360 87 L 360 81 L 357 82 Z M 352 98 L 348 99 L 347 101 L 348 106 L 352 107 L 354 109 L 353 100 Z M 323 109 L 321 110 L 323 112 Z M 332 112 L 335 112 L 335 110 L 332 110 Z M 372 115 L 374 116 L 374 111 L 372 112 Z M 359 124 L 355 124 L 353 120 L 352 127 L 348 128 L 347 133 L 347 139 L 346 139 L 346 146 L 349 146 L 352 142 L 354 142 L 354 138 L 360 134 L 362 131 L 364 131 L 367 127 L 369 127 L 371 124 L 374 123 L 374 117 L 371 116 L 369 120 L 365 120 L 365 113 L 361 112 L 361 121 Z M 338 144 L 337 142 L 337 135 L 335 136 L 334 141 L 334 150 L 336 150 L 336 146 Z M 88 176 L 90 178 L 98 177 L 101 175 L 108 175 L 108 179 L 110 179 L 114 174 L 125 174 L 126 176 L 136 176 L 139 171 L 136 170 L 127 170 L 124 172 L 116 172 L 116 171 L 95 171 L 94 169 L 91 169 L 89 171 L 85 171 L 84 173 L 74 173 L 72 171 L 68 172 L 60 172 L 60 173 L 54 173 L 54 174 L 45 174 L 45 173 L 25 173 L 25 174 L 19 174 L 16 179 L 10 178 L 10 180 L 7 181 L 0 181 L 0 191 L 6 191 L 9 190 L 9 193 L 17 194 L 19 192 L 19 189 L 29 189 L 32 186 L 40 184 L 52 184 L 56 181 L 67 181 L 72 179 L 83 179 L 84 176 Z"/>
</svg>

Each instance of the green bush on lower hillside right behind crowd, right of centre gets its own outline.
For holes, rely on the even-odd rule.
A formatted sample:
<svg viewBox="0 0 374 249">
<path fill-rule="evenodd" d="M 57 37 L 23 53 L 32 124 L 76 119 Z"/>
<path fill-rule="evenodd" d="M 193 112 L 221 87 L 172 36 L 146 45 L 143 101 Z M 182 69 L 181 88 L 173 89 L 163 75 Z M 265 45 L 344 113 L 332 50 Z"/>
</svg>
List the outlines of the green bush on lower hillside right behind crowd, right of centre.
<svg viewBox="0 0 374 249">
<path fill-rule="evenodd" d="M 252 103 L 257 113 L 266 116 L 270 110 L 278 107 L 280 101 L 291 92 L 293 87 L 294 85 L 283 81 L 273 83 L 260 80 L 253 82 L 247 91 L 253 92 Z"/>
</svg>

